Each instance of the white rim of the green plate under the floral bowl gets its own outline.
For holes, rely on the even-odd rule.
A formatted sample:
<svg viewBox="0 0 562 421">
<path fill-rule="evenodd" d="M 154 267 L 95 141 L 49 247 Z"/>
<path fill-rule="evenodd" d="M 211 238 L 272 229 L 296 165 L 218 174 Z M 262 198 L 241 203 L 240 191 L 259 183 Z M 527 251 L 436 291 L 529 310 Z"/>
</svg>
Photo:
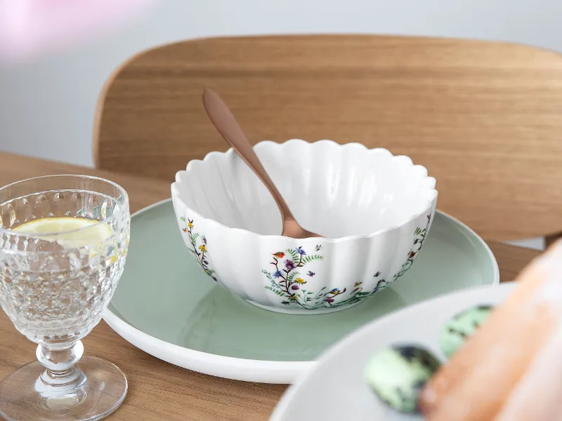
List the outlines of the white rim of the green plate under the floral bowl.
<svg viewBox="0 0 562 421">
<path fill-rule="evenodd" d="M 168 203 L 171 201 L 172 199 L 168 198 L 157 201 L 156 203 L 152 203 L 151 205 L 134 212 L 131 215 L 131 219 L 135 218 L 138 215 L 141 215 L 142 213 L 148 212 L 152 208 L 162 206 L 164 205 L 164 203 Z M 463 222 L 457 220 L 457 218 L 453 218 L 452 216 L 438 209 L 436 209 L 436 213 L 440 213 L 446 219 L 449 219 L 452 222 L 456 222 L 458 225 L 466 229 L 469 234 L 472 235 L 473 239 L 476 239 L 478 243 L 483 246 L 483 249 L 487 252 L 488 259 L 490 259 L 492 262 L 494 272 L 493 281 L 486 286 L 496 287 L 499 284 L 499 267 L 497 265 L 497 260 L 492 253 L 492 250 L 490 250 L 488 244 L 481 238 L 481 236 L 476 234 L 473 229 L 465 225 Z M 473 286 L 467 289 L 470 290 L 472 288 L 478 287 L 479 286 Z M 455 291 L 454 293 L 458 292 L 459 291 Z M 429 300 L 435 300 L 436 298 L 441 297 L 443 297 L 443 294 L 437 295 L 436 297 L 430 298 Z M 413 306 L 425 302 L 427 302 L 427 300 L 416 303 Z M 413 306 L 408 306 L 405 308 L 410 308 Z M 398 311 L 403 311 L 403 309 L 400 309 Z M 391 312 L 380 319 L 376 319 L 375 321 L 382 320 L 395 313 L 396 311 Z M 292 382 L 297 380 L 297 378 L 303 372 L 308 372 L 308 370 L 316 364 L 316 361 L 270 361 L 242 359 L 233 356 L 209 354 L 208 352 L 181 347 L 180 345 L 171 344 L 170 342 L 155 338 L 154 336 L 148 335 L 148 333 L 144 333 L 142 330 L 131 326 L 129 323 L 119 318 L 117 314 L 113 313 L 109 309 L 109 307 L 107 307 L 103 313 L 103 320 L 110 326 L 110 328 L 112 328 L 112 330 L 115 331 L 115 333 L 117 333 L 117 335 L 121 336 L 124 340 L 129 342 L 134 347 L 140 349 L 141 351 L 155 356 L 157 359 L 161 359 L 162 361 L 166 361 L 167 363 L 174 364 L 175 366 L 196 371 L 197 373 L 214 375 L 216 377 L 227 378 L 230 380 L 286 385 L 291 384 Z M 367 325 L 360 326 L 358 329 L 353 330 L 341 340 L 345 340 L 349 337 L 349 335 L 353 335 L 358 330 L 369 326 L 373 322 L 369 322 L 367 323 Z M 333 346 L 336 346 L 337 343 Z M 332 349 L 332 347 L 330 347 L 329 349 Z M 322 352 L 319 358 L 321 358 L 323 354 L 324 352 Z"/>
</svg>

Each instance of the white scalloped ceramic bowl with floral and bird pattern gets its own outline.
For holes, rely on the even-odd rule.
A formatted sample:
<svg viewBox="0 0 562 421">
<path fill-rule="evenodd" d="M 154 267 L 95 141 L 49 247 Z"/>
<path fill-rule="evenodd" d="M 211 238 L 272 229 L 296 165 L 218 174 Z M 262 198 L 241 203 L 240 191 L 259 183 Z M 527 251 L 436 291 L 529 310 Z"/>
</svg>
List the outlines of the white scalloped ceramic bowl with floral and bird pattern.
<svg viewBox="0 0 562 421">
<path fill-rule="evenodd" d="M 299 224 L 326 238 L 281 236 L 266 187 L 233 149 L 211 152 L 176 174 L 171 196 L 185 245 L 214 281 L 259 307 L 318 314 L 358 304 L 410 269 L 437 203 L 426 168 L 331 140 L 254 149 Z"/>
</svg>

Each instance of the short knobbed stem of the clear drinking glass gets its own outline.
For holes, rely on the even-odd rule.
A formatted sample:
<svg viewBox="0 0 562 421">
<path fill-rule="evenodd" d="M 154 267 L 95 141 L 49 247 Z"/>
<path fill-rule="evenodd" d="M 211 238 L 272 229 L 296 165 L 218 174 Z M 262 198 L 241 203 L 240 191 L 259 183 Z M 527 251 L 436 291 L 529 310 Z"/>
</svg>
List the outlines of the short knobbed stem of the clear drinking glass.
<svg viewBox="0 0 562 421">
<path fill-rule="evenodd" d="M 74 368 L 84 354 L 84 345 L 80 340 L 70 344 L 39 345 L 37 359 L 46 370 L 41 373 L 41 380 L 49 386 L 62 386 L 74 382 L 81 376 L 80 370 Z"/>
</svg>

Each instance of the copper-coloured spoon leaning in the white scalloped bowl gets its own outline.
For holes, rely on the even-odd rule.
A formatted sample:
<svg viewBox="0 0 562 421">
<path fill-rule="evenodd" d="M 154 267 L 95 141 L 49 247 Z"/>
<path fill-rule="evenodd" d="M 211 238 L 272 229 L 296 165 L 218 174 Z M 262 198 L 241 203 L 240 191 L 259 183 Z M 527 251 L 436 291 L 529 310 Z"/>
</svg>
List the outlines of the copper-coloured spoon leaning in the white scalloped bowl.
<svg viewBox="0 0 562 421">
<path fill-rule="evenodd" d="M 244 132 L 236 121 L 235 116 L 233 116 L 233 113 L 230 112 L 230 109 L 228 109 L 221 97 L 219 97 L 216 92 L 211 91 L 211 89 L 204 88 L 203 105 L 207 111 L 209 119 L 211 119 L 212 123 L 216 127 L 216 130 L 218 130 L 218 133 L 221 133 L 224 140 L 233 147 L 240 158 L 242 158 L 251 170 L 256 173 L 263 184 L 268 188 L 269 192 L 273 196 L 273 199 L 275 199 L 275 203 L 277 203 L 277 207 L 279 208 L 281 217 L 283 218 L 283 232 L 281 235 L 292 237 L 294 239 L 320 237 L 318 234 L 306 231 L 306 229 L 303 229 L 303 227 L 296 222 L 291 210 L 289 210 L 289 206 L 287 206 L 287 203 L 283 200 L 279 190 L 277 190 L 277 187 L 275 187 L 273 181 L 269 178 L 268 173 L 266 173 L 266 169 L 263 168 L 258 156 L 254 152 L 254 148 L 251 147 L 248 138 L 244 135 Z"/>
</svg>

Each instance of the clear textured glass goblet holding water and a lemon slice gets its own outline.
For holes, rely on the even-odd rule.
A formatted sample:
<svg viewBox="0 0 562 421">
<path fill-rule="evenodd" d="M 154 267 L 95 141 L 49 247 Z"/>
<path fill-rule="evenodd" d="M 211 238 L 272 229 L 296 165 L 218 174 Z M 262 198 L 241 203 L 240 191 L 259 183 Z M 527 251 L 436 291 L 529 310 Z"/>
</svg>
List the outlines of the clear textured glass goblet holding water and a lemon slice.
<svg viewBox="0 0 562 421">
<path fill-rule="evenodd" d="M 0 383 L 7 420 L 100 420 L 119 407 L 126 377 L 82 357 L 122 275 L 129 199 L 113 182 L 53 175 L 0 189 L 0 304 L 37 346 L 37 360 Z M 1 338 L 0 338 L 1 340 Z"/>
</svg>

